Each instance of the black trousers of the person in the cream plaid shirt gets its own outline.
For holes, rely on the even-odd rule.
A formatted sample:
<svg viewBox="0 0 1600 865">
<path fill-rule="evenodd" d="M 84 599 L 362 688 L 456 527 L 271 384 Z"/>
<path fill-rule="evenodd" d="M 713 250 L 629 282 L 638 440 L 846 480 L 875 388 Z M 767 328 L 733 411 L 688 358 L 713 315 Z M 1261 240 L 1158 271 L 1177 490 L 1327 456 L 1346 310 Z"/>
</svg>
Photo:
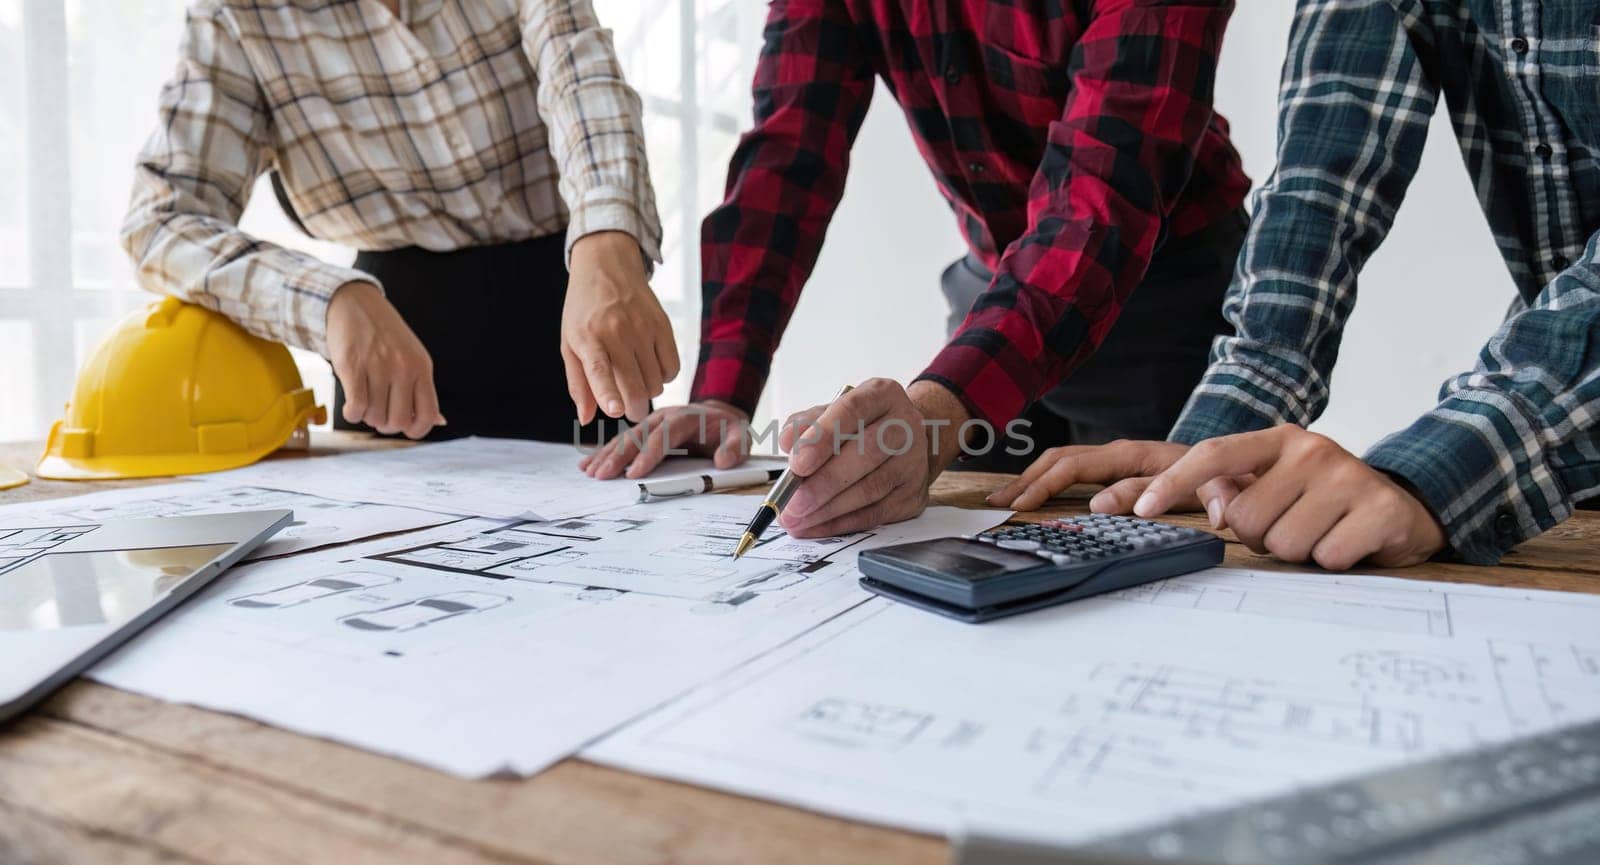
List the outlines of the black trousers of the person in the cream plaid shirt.
<svg viewBox="0 0 1600 865">
<path fill-rule="evenodd" d="M 464 435 L 573 441 L 578 409 L 562 365 L 566 254 L 562 235 L 451 253 L 362 253 L 355 267 L 382 281 L 389 302 L 434 358 L 438 408 L 450 421 L 427 438 Z M 333 425 L 344 421 L 344 385 Z M 608 436 L 616 422 L 606 421 Z M 598 424 L 584 427 L 594 443 Z"/>
</svg>

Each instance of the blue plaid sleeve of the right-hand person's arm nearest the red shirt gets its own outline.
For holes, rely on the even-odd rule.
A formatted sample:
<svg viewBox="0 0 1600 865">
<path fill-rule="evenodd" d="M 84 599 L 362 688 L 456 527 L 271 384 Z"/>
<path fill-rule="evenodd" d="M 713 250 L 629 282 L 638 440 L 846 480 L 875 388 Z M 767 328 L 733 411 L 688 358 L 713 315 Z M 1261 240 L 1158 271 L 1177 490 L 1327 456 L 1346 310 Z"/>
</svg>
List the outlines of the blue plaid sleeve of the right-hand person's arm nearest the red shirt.
<svg viewBox="0 0 1600 865">
<path fill-rule="evenodd" d="M 1386 0 L 1301 0 L 1283 75 L 1278 165 L 1222 309 L 1237 336 L 1218 341 L 1174 441 L 1322 413 L 1357 275 L 1421 160 L 1437 88 Z"/>
</svg>

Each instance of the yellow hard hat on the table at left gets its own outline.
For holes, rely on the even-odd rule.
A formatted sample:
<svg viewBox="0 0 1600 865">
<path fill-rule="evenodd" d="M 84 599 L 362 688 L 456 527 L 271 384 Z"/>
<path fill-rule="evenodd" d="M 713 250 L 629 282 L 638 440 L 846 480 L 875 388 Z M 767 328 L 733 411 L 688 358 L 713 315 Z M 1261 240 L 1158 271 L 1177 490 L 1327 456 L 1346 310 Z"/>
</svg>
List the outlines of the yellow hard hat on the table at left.
<svg viewBox="0 0 1600 865">
<path fill-rule="evenodd" d="M 154 478 L 248 465 L 326 411 L 290 350 L 176 297 L 130 313 L 78 371 L 38 476 Z"/>
</svg>

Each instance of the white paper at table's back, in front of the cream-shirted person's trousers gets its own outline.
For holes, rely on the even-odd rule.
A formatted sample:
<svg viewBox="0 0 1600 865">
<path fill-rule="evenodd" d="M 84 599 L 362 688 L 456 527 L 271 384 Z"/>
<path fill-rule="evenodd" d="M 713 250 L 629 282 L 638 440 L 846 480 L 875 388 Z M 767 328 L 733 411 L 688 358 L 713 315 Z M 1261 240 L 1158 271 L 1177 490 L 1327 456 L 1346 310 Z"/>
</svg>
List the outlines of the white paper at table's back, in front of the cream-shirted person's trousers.
<svg viewBox="0 0 1600 865">
<path fill-rule="evenodd" d="M 322 459 L 338 459 L 330 472 Z M 294 489 L 464 516 L 557 520 L 632 504 L 638 481 L 594 480 L 578 470 L 570 444 L 509 438 L 459 438 L 392 451 L 258 462 L 222 475 L 232 483 Z M 781 467 L 782 462 L 752 460 Z M 715 475 L 710 460 L 672 457 L 650 478 Z"/>
</svg>

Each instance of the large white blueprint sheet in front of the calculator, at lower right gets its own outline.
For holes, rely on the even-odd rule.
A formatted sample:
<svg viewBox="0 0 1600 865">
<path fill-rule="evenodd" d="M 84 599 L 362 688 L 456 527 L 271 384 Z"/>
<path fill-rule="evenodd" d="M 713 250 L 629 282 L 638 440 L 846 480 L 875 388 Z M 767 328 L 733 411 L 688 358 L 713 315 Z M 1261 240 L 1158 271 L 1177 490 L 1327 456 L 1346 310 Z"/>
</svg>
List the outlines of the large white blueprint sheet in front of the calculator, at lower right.
<svg viewBox="0 0 1600 865">
<path fill-rule="evenodd" d="M 1072 843 L 1600 716 L 1600 598 L 1214 569 L 963 625 L 874 600 L 584 758 Z"/>
</svg>

